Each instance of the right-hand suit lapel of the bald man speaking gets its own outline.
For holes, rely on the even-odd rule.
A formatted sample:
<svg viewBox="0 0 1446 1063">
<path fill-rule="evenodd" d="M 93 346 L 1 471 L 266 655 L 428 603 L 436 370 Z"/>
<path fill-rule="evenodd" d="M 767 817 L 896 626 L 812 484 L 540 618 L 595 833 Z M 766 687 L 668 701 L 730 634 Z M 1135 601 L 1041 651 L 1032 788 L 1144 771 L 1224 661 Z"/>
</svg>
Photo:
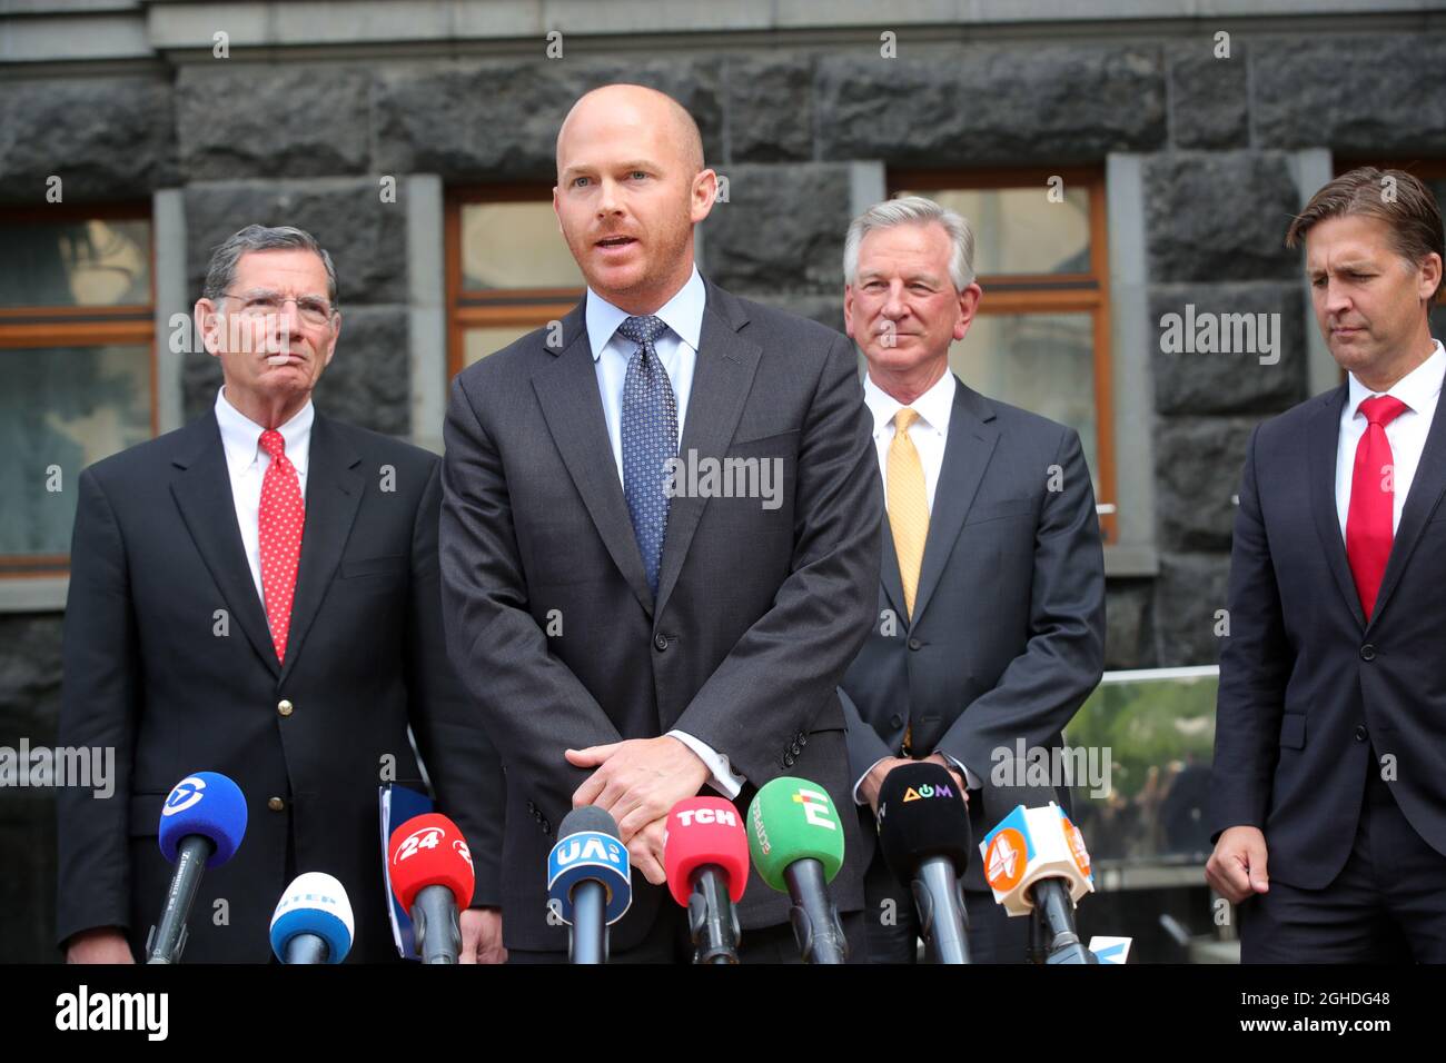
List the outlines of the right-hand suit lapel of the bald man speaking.
<svg viewBox="0 0 1446 1063">
<path fill-rule="evenodd" d="M 762 353 L 758 344 L 737 334 L 745 324 L 748 311 L 743 305 L 709 282 L 693 390 L 678 445 L 678 457 L 685 461 L 717 458 L 722 466 L 733 441 Z M 659 612 L 678 581 L 706 505 L 706 498 L 693 495 L 674 498 L 668 505 L 668 531 L 662 539 L 662 568 L 658 574 Z"/>
</svg>

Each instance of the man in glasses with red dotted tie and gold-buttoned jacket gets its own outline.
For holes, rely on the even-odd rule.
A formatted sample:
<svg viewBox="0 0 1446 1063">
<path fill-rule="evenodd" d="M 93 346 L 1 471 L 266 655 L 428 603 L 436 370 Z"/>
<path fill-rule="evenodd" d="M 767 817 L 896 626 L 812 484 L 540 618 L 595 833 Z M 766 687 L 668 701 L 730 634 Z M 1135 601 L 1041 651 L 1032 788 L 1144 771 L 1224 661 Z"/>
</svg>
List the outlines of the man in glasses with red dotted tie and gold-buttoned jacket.
<svg viewBox="0 0 1446 1063">
<path fill-rule="evenodd" d="M 56 939 L 72 962 L 143 955 L 171 876 L 162 801 L 217 771 L 246 837 L 202 879 L 182 959 L 266 960 L 307 871 L 347 891 L 350 960 L 396 959 L 377 790 L 421 785 L 411 729 L 471 843 L 466 959 L 500 960 L 502 774 L 442 644 L 440 461 L 312 405 L 341 314 L 309 233 L 230 237 L 195 321 L 221 363 L 214 406 L 80 476 L 59 740 L 114 748 L 117 780 L 59 794 Z"/>
</svg>

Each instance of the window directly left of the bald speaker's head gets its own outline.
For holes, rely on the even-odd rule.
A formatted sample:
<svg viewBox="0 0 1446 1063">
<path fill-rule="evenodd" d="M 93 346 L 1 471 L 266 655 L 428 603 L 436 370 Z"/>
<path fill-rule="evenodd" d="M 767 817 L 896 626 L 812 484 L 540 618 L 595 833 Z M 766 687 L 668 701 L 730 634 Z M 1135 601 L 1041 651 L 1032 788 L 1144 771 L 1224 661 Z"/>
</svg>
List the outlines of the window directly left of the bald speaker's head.
<svg viewBox="0 0 1446 1063">
<path fill-rule="evenodd" d="M 497 187 L 448 197 L 450 375 L 561 318 L 584 286 L 558 231 L 551 188 Z"/>
</svg>

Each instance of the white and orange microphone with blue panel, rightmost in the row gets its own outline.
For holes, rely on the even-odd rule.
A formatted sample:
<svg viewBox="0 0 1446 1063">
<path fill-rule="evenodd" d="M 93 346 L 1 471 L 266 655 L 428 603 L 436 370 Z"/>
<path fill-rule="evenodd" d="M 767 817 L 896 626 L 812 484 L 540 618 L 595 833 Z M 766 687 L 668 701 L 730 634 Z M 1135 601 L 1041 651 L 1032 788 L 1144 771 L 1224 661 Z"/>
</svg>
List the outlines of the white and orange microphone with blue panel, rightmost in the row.
<svg viewBox="0 0 1446 1063">
<path fill-rule="evenodd" d="M 1012 777 L 1025 777 L 1022 764 Z M 1095 891 L 1084 836 L 1044 787 L 1002 785 L 992 793 L 1002 800 L 986 797 L 991 804 L 1014 806 L 979 843 L 995 901 L 1011 915 L 1043 918 L 1045 963 L 1099 963 L 1074 926 L 1076 901 Z"/>
</svg>

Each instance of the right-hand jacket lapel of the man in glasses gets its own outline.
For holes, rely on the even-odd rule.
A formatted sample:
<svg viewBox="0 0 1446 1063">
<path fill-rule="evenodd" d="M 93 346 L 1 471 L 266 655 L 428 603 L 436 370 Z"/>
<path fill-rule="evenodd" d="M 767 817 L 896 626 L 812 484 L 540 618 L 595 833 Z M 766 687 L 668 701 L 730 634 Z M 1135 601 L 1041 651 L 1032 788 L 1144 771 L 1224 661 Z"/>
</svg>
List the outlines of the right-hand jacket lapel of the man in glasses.
<svg viewBox="0 0 1446 1063">
<path fill-rule="evenodd" d="M 341 563 L 341 551 L 362 505 L 360 464 L 362 457 L 346 445 L 327 418 L 317 414 L 307 457 L 307 524 L 301 535 L 301 563 L 296 567 L 296 596 L 291 606 L 282 680 L 301 657 L 311 622 L 317 619 L 321 600 Z"/>
</svg>

